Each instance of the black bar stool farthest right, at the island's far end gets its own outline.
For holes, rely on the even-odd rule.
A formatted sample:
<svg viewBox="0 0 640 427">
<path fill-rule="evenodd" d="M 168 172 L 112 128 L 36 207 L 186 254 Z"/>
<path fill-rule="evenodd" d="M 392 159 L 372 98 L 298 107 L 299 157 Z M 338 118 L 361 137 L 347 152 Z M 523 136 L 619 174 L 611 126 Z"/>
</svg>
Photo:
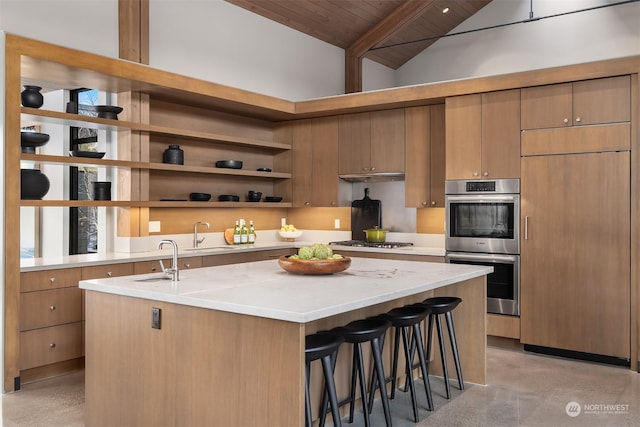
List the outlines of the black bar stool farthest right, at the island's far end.
<svg viewBox="0 0 640 427">
<path fill-rule="evenodd" d="M 462 302 L 462 299 L 458 297 L 434 297 L 427 298 L 422 301 L 421 305 L 431 310 L 429 314 L 429 333 L 427 335 L 427 354 L 431 354 L 431 342 L 433 332 L 433 322 L 435 320 L 436 327 L 438 329 L 438 341 L 440 343 L 440 358 L 442 359 L 442 371 L 444 373 L 444 384 L 447 394 L 447 399 L 451 398 L 451 392 L 449 387 L 449 372 L 447 368 L 447 356 L 444 350 L 444 337 L 442 335 L 442 323 L 440 321 L 440 315 L 444 315 L 447 322 L 447 329 L 449 331 L 449 341 L 451 342 L 451 351 L 453 352 L 453 361 L 456 366 L 456 374 L 458 376 L 458 386 L 460 390 L 464 390 L 464 380 L 462 379 L 462 369 L 460 367 L 460 357 L 458 356 L 458 345 L 456 343 L 456 333 L 453 328 L 453 316 L 451 312 L 458 304 Z"/>
</svg>

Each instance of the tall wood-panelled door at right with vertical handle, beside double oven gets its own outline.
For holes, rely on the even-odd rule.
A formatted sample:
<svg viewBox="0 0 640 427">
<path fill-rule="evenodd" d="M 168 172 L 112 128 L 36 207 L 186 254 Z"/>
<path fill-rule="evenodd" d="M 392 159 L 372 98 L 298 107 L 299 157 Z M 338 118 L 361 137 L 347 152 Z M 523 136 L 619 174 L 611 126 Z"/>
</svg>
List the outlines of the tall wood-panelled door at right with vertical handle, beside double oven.
<svg viewBox="0 0 640 427">
<path fill-rule="evenodd" d="M 630 359 L 630 153 L 522 159 L 521 342 Z"/>
</svg>

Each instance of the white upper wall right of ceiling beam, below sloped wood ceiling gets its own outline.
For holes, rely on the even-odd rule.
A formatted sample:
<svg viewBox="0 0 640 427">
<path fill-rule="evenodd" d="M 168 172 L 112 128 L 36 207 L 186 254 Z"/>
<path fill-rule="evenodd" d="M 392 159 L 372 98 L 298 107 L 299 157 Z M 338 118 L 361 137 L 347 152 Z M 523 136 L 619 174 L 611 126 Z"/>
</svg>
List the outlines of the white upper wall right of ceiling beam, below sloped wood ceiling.
<svg viewBox="0 0 640 427">
<path fill-rule="evenodd" d="M 533 0 L 534 18 L 617 1 Z M 526 20 L 530 5 L 493 0 L 452 33 Z M 442 38 L 397 70 L 396 86 L 632 55 L 640 55 L 640 3 Z"/>
</svg>

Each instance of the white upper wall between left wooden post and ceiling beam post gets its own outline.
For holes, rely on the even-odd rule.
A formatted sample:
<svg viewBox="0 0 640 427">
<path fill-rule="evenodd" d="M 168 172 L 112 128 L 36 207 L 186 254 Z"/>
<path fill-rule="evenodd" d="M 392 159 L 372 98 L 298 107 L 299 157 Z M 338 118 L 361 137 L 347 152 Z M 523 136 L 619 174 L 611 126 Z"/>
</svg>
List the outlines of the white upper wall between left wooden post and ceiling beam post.
<svg viewBox="0 0 640 427">
<path fill-rule="evenodd" d="M 344 51 L 222 0 L 151 0 L 150 65 L 289 100 L 344 93 Z"/>
</svg>

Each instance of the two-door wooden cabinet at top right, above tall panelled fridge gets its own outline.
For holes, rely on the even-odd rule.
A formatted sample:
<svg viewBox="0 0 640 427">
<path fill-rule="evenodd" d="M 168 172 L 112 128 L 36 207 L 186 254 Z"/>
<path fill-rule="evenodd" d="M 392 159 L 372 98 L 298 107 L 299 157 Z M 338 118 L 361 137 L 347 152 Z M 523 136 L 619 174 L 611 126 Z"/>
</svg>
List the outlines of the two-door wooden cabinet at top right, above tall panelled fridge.
<svg viewBox="0 0 640 427">
<path fill-rule="evenodd" d="M 629 76 L 522 89 L 522 129 L 628 122 Z"/>
</svg>

